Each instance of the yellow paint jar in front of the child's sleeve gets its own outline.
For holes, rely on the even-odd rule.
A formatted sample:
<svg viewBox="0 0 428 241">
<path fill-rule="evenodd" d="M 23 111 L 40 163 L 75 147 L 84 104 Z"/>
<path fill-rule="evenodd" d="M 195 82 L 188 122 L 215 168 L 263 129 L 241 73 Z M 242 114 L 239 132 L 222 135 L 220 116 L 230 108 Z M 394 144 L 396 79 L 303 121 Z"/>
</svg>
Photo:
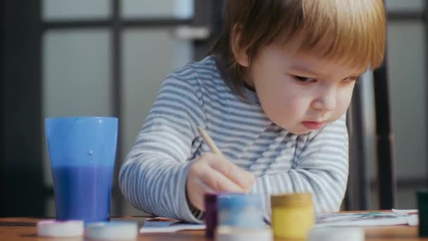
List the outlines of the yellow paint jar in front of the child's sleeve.
<svg viewBox="0 0 428 241">
<path fill-rule="evenodd" d="M 272 195 L 272 229 L 275 237 L 305 239 L 315 223 L 312 195 L 308 192 Z"/>
</svg>

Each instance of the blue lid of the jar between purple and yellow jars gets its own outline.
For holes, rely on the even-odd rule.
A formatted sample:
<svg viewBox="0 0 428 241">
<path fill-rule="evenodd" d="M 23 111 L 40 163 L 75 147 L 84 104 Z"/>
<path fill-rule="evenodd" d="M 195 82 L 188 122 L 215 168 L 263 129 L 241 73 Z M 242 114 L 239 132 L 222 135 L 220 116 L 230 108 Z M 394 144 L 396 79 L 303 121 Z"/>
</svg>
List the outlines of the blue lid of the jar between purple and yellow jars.
<svg viewBox="0 0 428 241">
<path fill-rule="evenodd" d="M 260 197 L 256 194 L 228 193 L 218 196 L 218 209 L 245 209 L 249 206 L 260 208 Z"/>
</svg>

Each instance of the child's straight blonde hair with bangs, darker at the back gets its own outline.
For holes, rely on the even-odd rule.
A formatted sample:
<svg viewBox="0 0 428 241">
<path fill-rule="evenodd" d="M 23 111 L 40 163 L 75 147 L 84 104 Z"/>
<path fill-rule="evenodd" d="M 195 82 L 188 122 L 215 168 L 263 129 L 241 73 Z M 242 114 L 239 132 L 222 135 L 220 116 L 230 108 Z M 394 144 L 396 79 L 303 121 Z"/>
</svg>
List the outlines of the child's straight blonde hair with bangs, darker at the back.
<svg viewBox="0 0 428 241">
<path fill-rule="evenodd" d="M 227 0 L 225 28 L 210 54 L 217 57 L 226 84 L 241 93 L 246 69 L 232 52 L 236 28 L 239 48 L 249 61 L 278 39 L 302 39 L 298 50 L 355 68 L 382 65 L 386 20 L 382 0 Z"/>
</svg>

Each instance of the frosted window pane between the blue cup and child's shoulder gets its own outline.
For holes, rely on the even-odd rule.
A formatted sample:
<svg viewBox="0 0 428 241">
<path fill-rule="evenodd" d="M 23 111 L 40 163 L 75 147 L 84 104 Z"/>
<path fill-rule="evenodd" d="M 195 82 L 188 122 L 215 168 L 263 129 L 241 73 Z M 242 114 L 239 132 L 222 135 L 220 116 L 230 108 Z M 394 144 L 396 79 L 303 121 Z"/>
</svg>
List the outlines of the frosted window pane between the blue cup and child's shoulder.
<svg viewBox="0 0 428 241">
<path fill-rule="evenodd" d="M 123 152 L 130 152 L 158 88 L 168 73 L 191 61 L 192 44 L 172 38 L 170 31 L 127 30 L 124 35 L 122 129 Z M 136 214 L 125 202 L 125 214 Z"/>
</svg>

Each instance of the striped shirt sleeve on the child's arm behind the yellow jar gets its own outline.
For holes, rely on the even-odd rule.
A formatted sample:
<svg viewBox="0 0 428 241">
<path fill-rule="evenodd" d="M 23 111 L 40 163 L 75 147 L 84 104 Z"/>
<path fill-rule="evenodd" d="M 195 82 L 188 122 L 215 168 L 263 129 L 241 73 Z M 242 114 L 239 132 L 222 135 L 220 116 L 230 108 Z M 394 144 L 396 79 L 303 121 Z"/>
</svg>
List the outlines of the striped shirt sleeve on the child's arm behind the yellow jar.
<svg viewBox="0 0 428 241">
<path fill-rule="evenodd" d="M 348 131 L 346 116 L 308 134 L 303 151 L 288 172 L 261 175 L 251 192 L 261 196 L 270 215 L 270 195 L 311 192 L 315 211 L 339 211 L 348 182 Z"/>
</svg>

